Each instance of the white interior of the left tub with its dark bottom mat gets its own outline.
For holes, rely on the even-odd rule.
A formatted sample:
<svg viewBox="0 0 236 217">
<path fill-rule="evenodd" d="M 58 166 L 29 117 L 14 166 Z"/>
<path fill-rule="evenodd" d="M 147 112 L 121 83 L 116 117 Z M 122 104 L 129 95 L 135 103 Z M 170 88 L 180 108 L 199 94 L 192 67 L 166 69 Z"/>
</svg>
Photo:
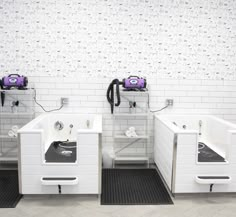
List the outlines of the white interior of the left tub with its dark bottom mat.
<svg viewBox="0 0 236 217">
<path fill-rule="evenodd" d="M 55 128 L 57 121 L 63 123 L 63 129 Z M 92 115 L 56 114 L 43 117 L 32 129 L 43 130 L 44 162 L 76 163 L 77 132 L 81 129 L 92 129 L 93 125 Z"/>
</svg>

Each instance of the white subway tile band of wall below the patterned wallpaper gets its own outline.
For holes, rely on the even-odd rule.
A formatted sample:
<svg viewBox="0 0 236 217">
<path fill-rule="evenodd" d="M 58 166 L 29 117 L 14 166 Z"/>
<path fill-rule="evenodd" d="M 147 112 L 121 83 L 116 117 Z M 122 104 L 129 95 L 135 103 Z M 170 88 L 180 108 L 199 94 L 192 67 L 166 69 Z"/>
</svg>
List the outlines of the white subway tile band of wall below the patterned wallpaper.
<svg viewBox="0 0 236 217">
<path fill-rule="evenodd" d="M 62 108 L 60 112 L 102 114 L 103 147 L 112 147 L 114 141 L 112 135 L 113 118 L 110 112 L 110 105 L 106 99 L 106 90 L 113 78 L 94 78 L 91 83 L 89 81 L 90 77 L 69 79 L 33 76 L 29 77 L 29 80 L 30 85 L 35 86 L 37 90 L 37 100 L 45 109 L 50 110 L 59 107 L 60 98 L 68 97 L 69 104 Z M 165 106 L 167 98 L 173 98 L 174 106 L 161 111 L 160 114 L 213 114 L 236 123 L 236 81 L 222 81 L 220 84 L 212 86 L 215 81 L 196 80 L 195 83 L 190 82 L 191 84 L 189 84 L 188 80 L 161 79 L 156 76 L 147 76 L 151 110 L 162 108 Z M 89 82 L 90 89 L 87 89 L 87 82 Z M 160 89 L 160 91 L 152 90 L 155 88 Z M 230 91 L 231 88 L 232 90 Z M 64 90 L 65 92 L 63 92 Z M 53 94 L 49 94 L 50 91 L 53 91 Z M 179 92 L 185 94 L 179 94 Z M 39 115 L 42 112 L 42 109 L 36 105 L 36 114 Z M 135 122 L 132 122 L 132 125 L 135 126 Z M 138 125 L 140 126 L 139 121 L 137 122 L 137 127 Z M 150 121 L 150 134 L 148 153 L 152 157 L 152 121 Z M 127 151 L 138 153 L 141 149 L 142 143 Z"/>
</svg>

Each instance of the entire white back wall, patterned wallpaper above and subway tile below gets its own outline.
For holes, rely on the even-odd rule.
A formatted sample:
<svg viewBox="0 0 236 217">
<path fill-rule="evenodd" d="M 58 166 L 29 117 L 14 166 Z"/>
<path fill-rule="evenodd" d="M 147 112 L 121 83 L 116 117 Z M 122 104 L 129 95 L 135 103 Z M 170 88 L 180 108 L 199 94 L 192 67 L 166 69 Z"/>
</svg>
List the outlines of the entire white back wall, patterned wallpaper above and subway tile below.
<svg viewBox="0 0 236 217">
<path fill-rule="evenodd" d="M 234 0 L 4 0 L 0 76 L 27 75 L 46 109 L 69 97 L 62 112 L 103 114 L 103 146 L 108 84 L 132 74 L 147 77 L 153 110 L 173 98 L 161 113 L 236 123 L 235 19 Z"/>
</svg>

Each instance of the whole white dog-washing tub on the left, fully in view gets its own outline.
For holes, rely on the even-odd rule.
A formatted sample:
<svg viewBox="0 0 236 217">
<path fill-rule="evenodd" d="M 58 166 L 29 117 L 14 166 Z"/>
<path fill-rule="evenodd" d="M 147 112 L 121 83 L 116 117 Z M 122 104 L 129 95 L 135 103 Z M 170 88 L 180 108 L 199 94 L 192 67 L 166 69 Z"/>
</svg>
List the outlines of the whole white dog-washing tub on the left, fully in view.
<svg viewBox="0 0 236 217">
<path fill-rule="evenodd" d="M 22 194 L 100 194 L 102 116 L 43 114 L 18 131 Z"/>
</svg>

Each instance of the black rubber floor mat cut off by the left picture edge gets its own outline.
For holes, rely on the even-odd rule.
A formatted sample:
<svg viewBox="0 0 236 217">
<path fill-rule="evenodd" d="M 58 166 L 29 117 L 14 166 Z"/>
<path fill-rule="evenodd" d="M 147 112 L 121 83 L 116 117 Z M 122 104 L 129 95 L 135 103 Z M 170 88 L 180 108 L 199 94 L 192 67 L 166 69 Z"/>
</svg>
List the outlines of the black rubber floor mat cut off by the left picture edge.
<svg viewBox="0 0 236 217">
<path fill-rule="evenodd" d="M 17 170 L 0 171 L 0 208 L 15 208 L 22 195 L 19 194 Z"/>
</svg>

